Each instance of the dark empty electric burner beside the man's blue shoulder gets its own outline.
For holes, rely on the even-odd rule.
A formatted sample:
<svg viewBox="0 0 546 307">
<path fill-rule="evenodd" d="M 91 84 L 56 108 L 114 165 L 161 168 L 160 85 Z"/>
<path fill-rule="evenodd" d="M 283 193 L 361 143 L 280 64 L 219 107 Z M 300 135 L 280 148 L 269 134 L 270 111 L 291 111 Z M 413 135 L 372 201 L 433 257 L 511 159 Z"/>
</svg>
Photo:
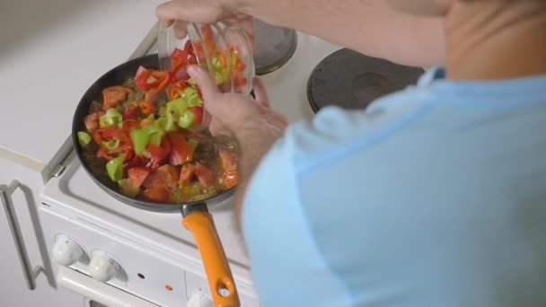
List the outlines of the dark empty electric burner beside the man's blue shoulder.
<svg viewBox="0 0 546 307">
<path fill-rule="evenodd" d="M 362 110 L 383 95 L 416 84 L 424 72 L 422 68 L 397 65 L 344 48 L 314 68 L 307 83 L 307 97 L 315 112 L 329 105 Z"/>
</svg>

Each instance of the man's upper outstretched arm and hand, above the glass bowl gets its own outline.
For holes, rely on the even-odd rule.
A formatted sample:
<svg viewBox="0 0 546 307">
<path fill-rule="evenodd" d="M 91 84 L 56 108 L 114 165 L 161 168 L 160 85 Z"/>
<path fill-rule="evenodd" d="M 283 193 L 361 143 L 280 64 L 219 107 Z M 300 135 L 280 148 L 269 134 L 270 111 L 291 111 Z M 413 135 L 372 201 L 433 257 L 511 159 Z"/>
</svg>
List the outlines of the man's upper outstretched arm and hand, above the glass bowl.
<svg viewBox="0 0 546 307">
<path fill-rule="evenodd" d="M 245 13 L 408 66 L 445 63 L 443 22 L 394 11 L 385 0 L 174 0 L 162 20 L 216 22 Z"/>
</svg>

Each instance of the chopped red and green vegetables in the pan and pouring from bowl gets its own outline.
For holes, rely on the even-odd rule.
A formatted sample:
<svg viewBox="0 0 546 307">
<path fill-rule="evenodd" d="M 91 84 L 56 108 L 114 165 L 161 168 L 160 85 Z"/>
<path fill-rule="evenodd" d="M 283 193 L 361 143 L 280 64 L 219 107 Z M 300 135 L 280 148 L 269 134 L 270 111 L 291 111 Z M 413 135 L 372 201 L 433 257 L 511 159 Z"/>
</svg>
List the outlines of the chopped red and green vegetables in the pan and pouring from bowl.
<svg viewBox="0 0 546 307">
<path fill-rule="evenodd" d="M 105 88 L 103 101 L 93 102 L 84 118 L 86 131 L 77 136 L 84 161 L 105 171 L 108 177 L 102 177 L 117 182 L 121 194 L 185 203 L 213 197 L 237 184 L 236 144 L 216 143 L 207 131 L 189 130 L 202 122 L 203 101 L 187 67 L 197 64 L 197 58 L 203 65 L 203 44 L 212 58 L 216 82 L 223 83 L 222 91 L 232 80 L 246 83 L 245 65 L 236 50 L 217 48 L 210 34 L 202 42 L 175 50 L 168 72 L 140 66 L 133 79 Z M 163 101 L 167 87 L 171 100 Z M 90 146 L 92 141 L 95 145 Z"/>
</svg>

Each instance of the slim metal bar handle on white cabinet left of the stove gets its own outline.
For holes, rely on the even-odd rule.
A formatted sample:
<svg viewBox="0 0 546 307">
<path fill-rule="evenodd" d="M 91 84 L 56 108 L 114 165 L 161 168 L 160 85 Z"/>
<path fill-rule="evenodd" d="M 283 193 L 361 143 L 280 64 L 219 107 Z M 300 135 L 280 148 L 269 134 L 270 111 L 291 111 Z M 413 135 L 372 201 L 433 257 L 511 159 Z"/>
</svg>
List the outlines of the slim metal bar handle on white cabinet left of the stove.
<svg viewBox="0 0 546 307">
<path fill-rule="evenodd" d="M 4 206 L 7 222 L 10 225 L 10 230 L 12 231 L 15 249 L 17 250 L 17 255 L 19 255 L 19 261 L 21 261 L 22 274 L 27 282 L 27 287 L 29 290 L 34 290 L 36 289 L 36 278 L 41 272 L 43 272 L 44 268 L 41 266 L 36 266 L 36 268 L 32 269 L 29 253 L 27 252 L 27 248 L 22 240 L 21 227 L 19 226 L 17 215 L 15 215 L 12 200 L 13 192 L 15 189 L 19 188 L 20 185 L 21 184 L 18 180 L 13 180 L 7 189 L 0 188 L 0 198 L 2 199 L 2 205 Z"/>
</svg>

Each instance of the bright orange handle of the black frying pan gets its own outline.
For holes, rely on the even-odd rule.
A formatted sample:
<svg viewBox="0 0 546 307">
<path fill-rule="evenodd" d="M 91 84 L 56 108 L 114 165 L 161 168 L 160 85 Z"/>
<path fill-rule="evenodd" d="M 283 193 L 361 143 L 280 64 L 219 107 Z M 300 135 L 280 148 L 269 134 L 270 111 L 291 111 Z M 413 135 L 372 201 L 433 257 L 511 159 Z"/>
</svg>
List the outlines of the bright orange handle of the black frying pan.
<svg viewBox="0 0 546 307">
<path fill-rule="evenodd" d="M 207 205 L 190 205 L 182 208 L 182 225 L 197 241 L 198 250 L 207 272 L 208 285 L 216 307 L 239 307 L 239 294 L 233 281 L 224 247 Z M 225 291 L 227 290 L 227 291 Z"/>
</svg>

